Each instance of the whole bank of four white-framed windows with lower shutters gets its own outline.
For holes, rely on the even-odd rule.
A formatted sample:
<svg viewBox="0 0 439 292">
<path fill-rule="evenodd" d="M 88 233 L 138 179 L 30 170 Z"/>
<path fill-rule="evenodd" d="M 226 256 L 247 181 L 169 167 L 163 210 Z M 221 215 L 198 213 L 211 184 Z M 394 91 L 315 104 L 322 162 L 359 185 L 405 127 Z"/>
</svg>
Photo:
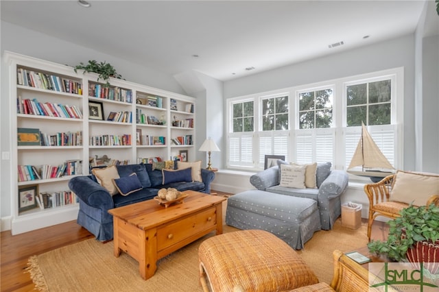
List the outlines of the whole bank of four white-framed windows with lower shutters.
<svg viewBox="0 0 439 292">
<path fill-rule="evenodd" d="M 402 68 L 227 102 L 230 168 L 258 171 L 265 155 L 285 155 L 288 161 L 332 162 L 333 169 L 346 169 L 361 121 L 389 162 L 395 168 L 402 163 L 402 147 L 397 147 L 402 143 L 397 131 L 403 121 Z"/>
</svg>

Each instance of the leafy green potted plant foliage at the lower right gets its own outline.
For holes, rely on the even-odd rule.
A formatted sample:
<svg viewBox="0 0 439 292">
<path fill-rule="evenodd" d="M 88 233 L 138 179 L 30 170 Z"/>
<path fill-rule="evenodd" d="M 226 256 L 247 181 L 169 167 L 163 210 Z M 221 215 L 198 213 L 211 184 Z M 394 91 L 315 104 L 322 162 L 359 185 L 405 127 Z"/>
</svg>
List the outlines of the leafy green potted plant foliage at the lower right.
<svg viewBox="0 0 439 292">
<path fill-rule="evenodd" d="M 409 206 L 400 212 L 401 217 L 388 221 L 387 241 L 371 241 L 370 252 L 385 254 L 392 260 L 405 260 L 407 250 L 417 241 L 439 240 L 439 206 Z"/>
</svg>

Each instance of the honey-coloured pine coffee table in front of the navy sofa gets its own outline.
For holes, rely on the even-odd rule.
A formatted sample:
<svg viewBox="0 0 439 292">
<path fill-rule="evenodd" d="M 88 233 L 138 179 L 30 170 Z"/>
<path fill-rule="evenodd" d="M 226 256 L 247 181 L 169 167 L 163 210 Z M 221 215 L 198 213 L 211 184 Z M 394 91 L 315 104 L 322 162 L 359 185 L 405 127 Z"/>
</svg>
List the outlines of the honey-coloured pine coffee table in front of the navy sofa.
<svg viewBox="0 0 439 292">
<path fill-rule="evenodd" d="M 139 262 L 140 275 L 154 276 L 159 258 L 216 230 L 222 234 L 225 197 L 196 191 L 180 204 L 161 206 L 154 199 L 108 210 L 113 216 L 115 256 L 126 252 Z"/>
</svg>

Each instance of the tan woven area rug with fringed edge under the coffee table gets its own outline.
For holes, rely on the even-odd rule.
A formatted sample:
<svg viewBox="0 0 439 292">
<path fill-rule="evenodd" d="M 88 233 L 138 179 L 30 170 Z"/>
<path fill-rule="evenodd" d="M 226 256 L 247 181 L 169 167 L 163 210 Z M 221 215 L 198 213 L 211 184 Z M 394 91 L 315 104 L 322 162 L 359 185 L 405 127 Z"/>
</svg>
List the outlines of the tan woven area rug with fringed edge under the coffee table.
<svg viewBox="0 0 439 292">
<path fill-rule="evenodd" d="M 332 252 L 355 250 L 367 243 L 367 226 L 342 228 L 340 219 L 331 231 L 318 231 L 298 251 L 320 282 L 330 283 Z M 236 231 L 224 226 L 224 233 Z M 113 243 L 88 239 L 29 258 L 32 280 L 40 291 L 202 291 L 198 282 L 198 246 L 210 236 L 158 260 L 155 275 L 143 280 L 139 264 L 127 254 L 113 255 Z"/>
</svg>

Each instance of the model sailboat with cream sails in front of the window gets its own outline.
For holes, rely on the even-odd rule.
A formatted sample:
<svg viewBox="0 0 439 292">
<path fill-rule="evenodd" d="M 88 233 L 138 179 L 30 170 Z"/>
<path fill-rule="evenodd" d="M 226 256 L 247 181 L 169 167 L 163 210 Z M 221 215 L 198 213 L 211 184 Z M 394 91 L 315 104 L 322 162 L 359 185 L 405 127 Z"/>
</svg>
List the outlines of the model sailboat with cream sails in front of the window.
<svg viewBox="0 0 439 292">
<path fill-rule="evenodd" d="M 354 170 L 354 167 L 361 167 L 361 170 Z M 348 167 L 348 173 L 367 176 L 372 181 L 380 180 L 387 175 L 394 173 L 394 167 L 373 141 L 366 126 L 361 122 L 361 138 L 357 149 Z"/>
</svg>

